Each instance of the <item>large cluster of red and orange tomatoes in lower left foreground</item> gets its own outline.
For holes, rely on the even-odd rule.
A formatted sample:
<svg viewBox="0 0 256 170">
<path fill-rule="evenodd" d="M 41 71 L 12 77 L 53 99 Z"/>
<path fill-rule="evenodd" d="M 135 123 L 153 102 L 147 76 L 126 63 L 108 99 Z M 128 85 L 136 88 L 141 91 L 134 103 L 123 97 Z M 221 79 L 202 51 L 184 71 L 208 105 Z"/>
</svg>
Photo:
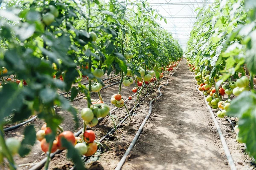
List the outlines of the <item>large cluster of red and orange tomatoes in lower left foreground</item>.
<svg viewBox="0 0 256 170">
<path fill-rule="evenodd" d="M 65 150 L 66 148 L 62 145 L 61 139 L 65 138 L 68 142 L 73 144 L 75 148 L 79 151 L 81 155 L 91 156 L 97 150 L 97 144 L 94 142 L 96 136 L 92 130 L 86 130 L 83 134 L 83 139 L 80 137 L 75 137 L 75 135 L 70 131 L 62 132 L 62 128 L 58 129 L 58 136 L 52 143 L 51 153 L 56 150 Z M 36 138 L 38 141 L 41 141 L 41 150 L 45 153 L 49 151 L 49 143 L 47 142 L 45 136 L 52 133 L 50 127 L 47 127 L 47 124 L 44 124 L 36 133 Z"/>
</svg>

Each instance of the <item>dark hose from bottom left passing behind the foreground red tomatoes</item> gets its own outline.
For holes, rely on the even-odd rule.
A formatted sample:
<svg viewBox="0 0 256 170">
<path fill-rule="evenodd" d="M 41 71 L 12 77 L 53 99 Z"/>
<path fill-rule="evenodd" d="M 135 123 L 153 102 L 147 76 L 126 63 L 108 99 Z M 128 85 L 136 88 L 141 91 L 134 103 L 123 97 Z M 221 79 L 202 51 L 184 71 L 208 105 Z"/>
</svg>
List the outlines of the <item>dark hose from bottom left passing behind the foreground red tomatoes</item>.
<svg viewBox="0 0 256 170">
<path fill-rule="evenodd" d="M 107 87 L 107 86 L 106 86 Z M 102 88 L 103 89 L 103 88 Z M 135 96 L 135 95 L 137 95 L 137 93 L 134 93 L 134 95 L 132 95 L 132 97 L 133 96 Z M 128 99 L 126 99 L 125 100 L 125 102 L 126 101 L 128 101 Z M 116 109 L 118 109 L 118 107 L 115 107 L 115 108 L 113 108 L 111 111 L 110 111 L 110 113 L 111 112 L 113 112 L 114 110 L 116 110 Z M 125 116 L 125 118 L 126 118 L 126 116 Z M 100 121 L 102 121 L 104 118 L 98 118 L 98 121 L 100 122 Z M 117 125 L 117 126 L 119 126 L 119 125 Z M 79 136 L 82 132 L 83 132 L 83 128 L 81 129 L 81 130 L 79 130 L 77 133 L 75 133 L 75 136 Z M 50 154 L 50 158 L 52 159 L 56 154 L 58 154 L 58 153 L 61 153 L 63 150 L 57 150 L 57 151 L 55 151 L 54 153 L 51 153 Z M 46 163 L 46 161 L 47 161 L 47 157 L 45 157 L 44 159 L 42 159 L 40 162 L 38 162 L 34 167 L 32 167 L 32 168 L 30 168 L 29 170 L 40 170 L 42 167 L 44 167 L 44 164 Z"/>
</svg>

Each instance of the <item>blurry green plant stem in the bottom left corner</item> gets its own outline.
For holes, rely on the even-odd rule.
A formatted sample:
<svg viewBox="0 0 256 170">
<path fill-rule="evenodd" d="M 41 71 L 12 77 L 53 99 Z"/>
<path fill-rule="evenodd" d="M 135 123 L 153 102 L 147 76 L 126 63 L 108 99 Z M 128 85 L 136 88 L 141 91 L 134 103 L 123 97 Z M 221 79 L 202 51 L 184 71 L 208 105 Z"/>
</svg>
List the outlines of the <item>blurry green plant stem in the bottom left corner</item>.
<svg viewBox="0 0 256 170">
<path fill-rule="evenodd" d="M 10 170 L 16 170 L 16 166 L 15 166 L 15 162 L 12 158 L 12 154 L 10 153 L 8 147 L 6 146 L 5 140 L 4 140 L 4 133 L 3 133 L 3 126 L 0 125 L 0 146 L 2 147 L 2 152 L 4 154 L 4 156 L 6 156 L 6 158 L 9 161 L 9 168 Z"/>
</svg>

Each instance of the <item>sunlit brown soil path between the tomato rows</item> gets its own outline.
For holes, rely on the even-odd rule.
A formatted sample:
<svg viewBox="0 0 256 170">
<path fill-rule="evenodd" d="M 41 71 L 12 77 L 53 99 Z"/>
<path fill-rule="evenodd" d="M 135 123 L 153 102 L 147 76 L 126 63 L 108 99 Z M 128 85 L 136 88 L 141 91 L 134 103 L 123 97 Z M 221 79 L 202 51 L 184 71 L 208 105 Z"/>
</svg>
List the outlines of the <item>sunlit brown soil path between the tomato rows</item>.
<svg viewBox="0 0 256 170">
<path fill-rule="evenodd" d="M 162 90 L 122 170 L 229 170 L 186 61 Z"/>
</svg>

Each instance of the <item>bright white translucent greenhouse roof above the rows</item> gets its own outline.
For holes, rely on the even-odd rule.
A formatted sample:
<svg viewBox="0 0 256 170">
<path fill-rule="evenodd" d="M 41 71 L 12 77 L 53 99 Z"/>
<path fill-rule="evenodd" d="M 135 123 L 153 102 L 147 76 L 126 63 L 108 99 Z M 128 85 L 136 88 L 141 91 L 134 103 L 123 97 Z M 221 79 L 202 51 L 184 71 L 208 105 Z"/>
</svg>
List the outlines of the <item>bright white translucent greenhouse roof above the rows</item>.
<svg viewBox="0 0 256 170">
<path fill-rule="evenodd" d="M 196 21 L 195 9 L 209 5 L 213 0 L 148 0 L 148 3 L 167 20 L 167 24 L 160 19 L 157 22 L 163 29 L 172 32 L 173 37 L 185 49 Z"/>
</svg>

